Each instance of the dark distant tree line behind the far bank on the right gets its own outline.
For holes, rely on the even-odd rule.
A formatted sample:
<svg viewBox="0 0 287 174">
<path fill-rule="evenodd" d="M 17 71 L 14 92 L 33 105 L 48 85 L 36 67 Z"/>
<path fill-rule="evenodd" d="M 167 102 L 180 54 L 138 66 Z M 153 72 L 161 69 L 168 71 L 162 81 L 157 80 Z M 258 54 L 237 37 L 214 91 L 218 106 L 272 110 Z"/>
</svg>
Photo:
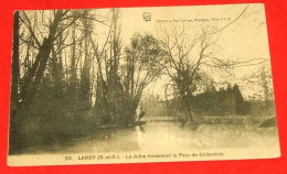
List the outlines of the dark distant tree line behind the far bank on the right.
<svg viewBox="0 0 287 174">
<path fill-rule="evenodd" d="M 191 115 L 205 117 L 258 116 L 275 115 L 274 100 L 244 99 L 238 85 L 227 85 L 216 89 L 213 85 L 203 93 L 190 97 Z M 181 112 L 179 97 L 166 100 L 149 97 L 142 102 L 144 109 L 150 117 L 178 117 Z"/>
</svg>

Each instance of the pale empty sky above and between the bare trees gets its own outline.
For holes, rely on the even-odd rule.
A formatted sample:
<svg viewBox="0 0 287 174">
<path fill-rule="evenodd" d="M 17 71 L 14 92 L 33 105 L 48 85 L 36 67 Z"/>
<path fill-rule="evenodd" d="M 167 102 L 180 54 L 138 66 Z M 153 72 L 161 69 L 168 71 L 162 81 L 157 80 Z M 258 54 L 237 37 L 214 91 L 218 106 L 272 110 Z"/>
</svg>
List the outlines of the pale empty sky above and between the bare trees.
<svg viewBox="0 0 287 174">
<path fill-rule="evenodd" d="M 246 9 L 247 8 L 247 9 Z M 246 11 L 244 11 L 246 9 Z M 240 17 L 240 14 L 244 13 Z M 151 21 L 145 21 L 144 13 L 151 14 Z M 240 17 L 240 18 L 238 18 Z M 236 18 L 238 18 L 236 20 Z M 234 21 L 232 24 L 230 24 Z M 265 10 L 263 4 L 227 4 L 227 6 L 193 6 L 193 7 L 159 7 L 159 8 L 125 8 L 120 9 L 119 23 L 124 44 L 130 41 L 134 33 L 151 33 L 160 37 L 160 29 L 184 28 L 194 34 L 201 26 L 222 29 L 217 48 L 214 54 L 222 59 L 236 62 L 249 62 L 235 67 L 232 75 L 214 74 L 214 78 L 221 81 L 238 84 L 243 95 L 248 98 L 254 90 L 244 88 L 245 84 L 240 79 L 256 72 L 257 64 L 265 62 L 269 70 L 269 47 L 266 30 Z M 228 25 L 230 24 L 230 25 Z M 228 25 L 228 26 L 226 26 Z M 225 28 L 226 26 L 226 28 Z M 246 66 L 248 65 L 248 66 Z M 262 64 L 259 64 L 262 66 Z M 152 94 L 163 95 L 162 86 L 167 79 L 158 79 L 148 87 Z M 253 86 L 259 88 L 259 86 Z"/>
</svg>

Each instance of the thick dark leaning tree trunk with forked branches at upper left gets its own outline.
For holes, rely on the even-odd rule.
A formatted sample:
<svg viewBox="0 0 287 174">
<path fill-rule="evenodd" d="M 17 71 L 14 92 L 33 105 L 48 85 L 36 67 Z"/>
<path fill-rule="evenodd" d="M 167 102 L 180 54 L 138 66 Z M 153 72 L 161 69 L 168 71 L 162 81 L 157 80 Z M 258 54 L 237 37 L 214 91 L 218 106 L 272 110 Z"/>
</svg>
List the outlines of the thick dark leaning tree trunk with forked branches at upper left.
<svg viewBox="0 0 287 174">
<path fill-rule="evenodd" d="M 49 28 L 47 36 L 43 39 L 42 43 L 39 41 L 35 31 L 33 30 L 29 17 L 25 14 L 25 12 L 22 13 L 23 13 L 23 18 L 25 18 L 25 20 L 22 20 L 22 22 L 25 23 L 29 32 L 31 33 L 31 35 L 33 36 L 36 43 L 35 47 L 38 47 L 39 50 L 32 67 L 28 70 L 28 74 L 24 76 L 23 79 L 24 83 L 23 83 L 21 99 L 22 101 L 29 101 L 33 98 L 35 89 L 41 83 L 55 40 L 67 28 L 70 28 L 73 23 L 75 23 L 75 21 L 78 18 L 81 18 L 81 12 L 70 13 L 70 10 L 54 11 L 52 14 L 53 18 L 51 18 L 51 21 L 47 24 Z M 65 25 L 62 29 L 59 28 L 61 23 L 65 23 Z"/>
</svg>

